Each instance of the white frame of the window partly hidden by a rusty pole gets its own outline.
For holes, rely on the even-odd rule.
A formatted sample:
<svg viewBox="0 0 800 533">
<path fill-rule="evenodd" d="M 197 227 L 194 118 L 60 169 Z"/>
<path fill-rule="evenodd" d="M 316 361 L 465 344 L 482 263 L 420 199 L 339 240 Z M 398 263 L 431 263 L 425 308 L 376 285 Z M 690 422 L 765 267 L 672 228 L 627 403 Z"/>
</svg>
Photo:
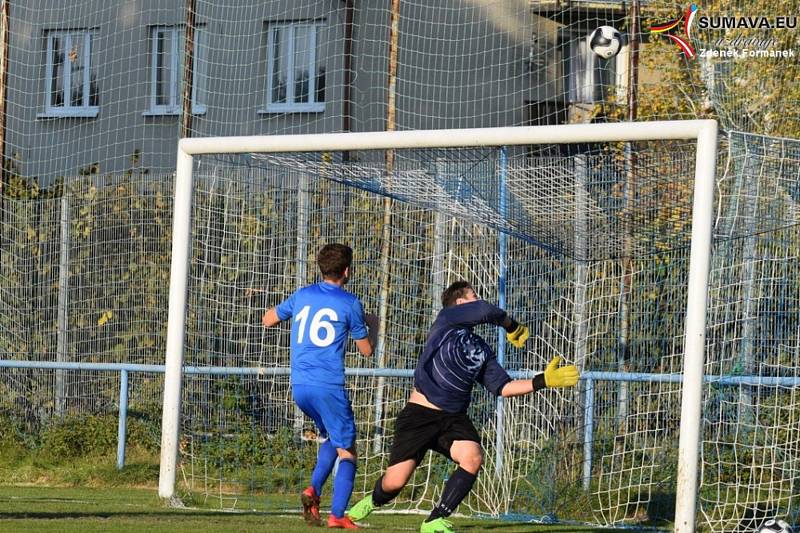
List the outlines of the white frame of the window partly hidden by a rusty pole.
<svg viewBox="0 0 800 533">
<path fill-rule="evenodd" d="M 200 62 L 201 55 L 203 52 L 201 50 L 205 50 L 205 38 L 202 37 L 204 32 L 202 31 L 202 26 L 195 27 L 194 33 L 194 54 L 192 54 L 192 73 L 193 73 L 193 81 L 192 83 L 192 115 L 204 115 L 208 110 L 208 107 L 205 103 L 199 103 L 198 99 L 200 95 L 198 94 L 198 83 L 196 80 L 199 78 L 206 78 L 203 79 L 203 83 L 207 81 L 205 68 L 200 68 L 203 66 L 203 63 Z M 158 39 L 158 35 L 161 33 L 169 33 L 170 34 L 170 43 L 171 48 L 169 50 L 169 103 L 168 104 L 157 104 L 158 95 L 157 95 L 157 74 L 158 74 L 158 62 L 157 59 L 157 48 L 156 42 Z M 179 54 L 183 53 L 183 48 L 180 46 L 181 43 L 184 43 L 185 40 L 185 26 L 183 25 L 152 25 L 149 29 L 149 43 L 150 49 L 148 51 L 148 58 L 149 58 L 149 65 L 148 65 L 148 73 L 150 75 L 150 80 L 148 83 L 148 90 L 149 94 L 147 96 L 148 108 L 147 111 L 142 113 L 144 116 L 176 116 L 180 115 L 183 108 L 182 103 L 182 91 L 179 90 L 182 84 L 182 76 L 183 76 L 183 69 L 179 68 L 180 62 L 178 61 Z"/>
</svg>

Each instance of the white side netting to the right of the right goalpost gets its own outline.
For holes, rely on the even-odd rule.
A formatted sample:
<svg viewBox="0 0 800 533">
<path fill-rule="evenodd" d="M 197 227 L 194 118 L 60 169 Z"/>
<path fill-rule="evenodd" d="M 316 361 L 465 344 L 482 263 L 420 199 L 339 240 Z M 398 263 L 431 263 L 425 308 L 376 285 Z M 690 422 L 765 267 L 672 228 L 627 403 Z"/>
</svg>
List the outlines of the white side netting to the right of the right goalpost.
<svg viewBox="0 0 800 533">
<path fill-rule="evenodd" d="M 703 521 L 800 523 L 800 143 L 732 133 L 718 186 L 703 400 Z"/>
</svg>

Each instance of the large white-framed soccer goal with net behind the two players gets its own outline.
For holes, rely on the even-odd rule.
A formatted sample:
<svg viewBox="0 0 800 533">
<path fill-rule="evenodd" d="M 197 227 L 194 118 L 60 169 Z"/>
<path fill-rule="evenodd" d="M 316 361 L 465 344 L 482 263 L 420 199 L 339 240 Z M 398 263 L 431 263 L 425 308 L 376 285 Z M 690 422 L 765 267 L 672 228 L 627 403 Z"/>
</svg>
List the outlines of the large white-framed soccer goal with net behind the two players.
<svg viewBox="0 0 800 533">
<path fill-rule="evenodd" d="M 583 378 L 476 390 L 486 465 L 461 512 L 614 524 L 665 491 L 693 531 L 716 166 L 710 120 L 181 140 L 160 496 L 179 474 L 231 498 L 234 481 L 300 487 L 315 435 L 292 408 L 288 331 L 260 316 L 339 241 L 381 321 L 375 358 L 347 359 L 357 492 L 385 467 L 438 294 L 466 278 L 530 326 L 524 350 L 482 331 L 513 375 L 561 354 Z M 427 459 L 398 508 L 424 509 L 448 469 Z"/>
</svg>

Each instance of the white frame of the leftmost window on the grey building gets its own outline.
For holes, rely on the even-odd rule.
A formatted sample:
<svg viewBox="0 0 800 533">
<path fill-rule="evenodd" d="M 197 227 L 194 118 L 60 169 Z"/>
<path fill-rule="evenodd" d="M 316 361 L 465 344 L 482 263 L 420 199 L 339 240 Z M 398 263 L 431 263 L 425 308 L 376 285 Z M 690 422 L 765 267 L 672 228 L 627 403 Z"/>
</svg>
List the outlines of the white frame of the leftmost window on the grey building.
<svg viewBox="0 0 800 533">
<path fill-rule="evenodd" d="M 46 58 L 45 58 L 45 97 L 47 101 L 45 103 L 44 112 L 39 113 L 37 118 L 60 118 L 60 117 L 76 117 L 76 118 L 95 118 L 100 113 L 100 106 L 99 105 L 91 105 L 91 92 L 92 92 L 92 52 L 93 52 L 93 41 L 96 32 L 94 30 L 82 30 L 82 29 L 73 29 L 73 30 L 48 30 L 45 33 L 45 38 L 47 39 L 47 46 L 46 46 Z M 72 68 L 69 67 L 70 63 L 67 61 L 67 54 L 69 54 L 69 50 L 72 50 L 72 40 L 73 37 L 79 36 L 83 40 L 83 62 L 82 65 L 84 66 L 83 69 L 83 80 L 82 80 L 82 87 L 83 87 L 83 97 L 81 105 L 76 106 L 72 105 L 72 98 L 69 96 L 71 95 L 72 89 Z M 54 62 L 54 48 L 53 48 L 53 41 L 55 38 L 61 38 L 64 40 L 64 62 L 63 62 L 63 74 L 62 74 L 62 86 L 61 90 L 63 91 L 63 106 L 54 106 L 52 105 L 53 102 L 53 68 L 55 66 Z M 69 67 L 69 68 L 68 68 Z M 99 100 L 99 95 L 98 95 Z"/>
</svg>

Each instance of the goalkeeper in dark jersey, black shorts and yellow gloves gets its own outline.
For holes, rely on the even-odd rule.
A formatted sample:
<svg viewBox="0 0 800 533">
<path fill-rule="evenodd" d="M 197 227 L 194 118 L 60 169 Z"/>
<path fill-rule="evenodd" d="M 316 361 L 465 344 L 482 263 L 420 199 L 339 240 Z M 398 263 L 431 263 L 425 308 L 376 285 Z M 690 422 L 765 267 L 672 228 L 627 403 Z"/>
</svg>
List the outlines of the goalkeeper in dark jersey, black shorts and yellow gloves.
<svg viewBox="0 0 800 533">
<path fill-rule="evenodd" d="M 458 466 L 420 532 L 452 532 L 447 517 L 469 494 L 483 462 L 480 437 L 467 416 L 473 384 L 478 382 L 494 394 L 510 397 L 546 387 L 572 387 L 578 382 L 578 369 L 574 365 L 559 368 L 560 357 L 553 358 L 544 373 L 532 380 L 511 379 L 472 328 L 478 324 L 501 326 L 517 348 L 525 344 L 528 328 L 499 307 L 479 300 L 466 281 L 457 281 L 442 293 L 442 306 L 417 363 L 414 390 L 395 422 L 389 467 L 375 482 L 372 494 L 347 512 L 354 521 L 392 501 L 428 450 L 434 450 Z"/>
</svg>

